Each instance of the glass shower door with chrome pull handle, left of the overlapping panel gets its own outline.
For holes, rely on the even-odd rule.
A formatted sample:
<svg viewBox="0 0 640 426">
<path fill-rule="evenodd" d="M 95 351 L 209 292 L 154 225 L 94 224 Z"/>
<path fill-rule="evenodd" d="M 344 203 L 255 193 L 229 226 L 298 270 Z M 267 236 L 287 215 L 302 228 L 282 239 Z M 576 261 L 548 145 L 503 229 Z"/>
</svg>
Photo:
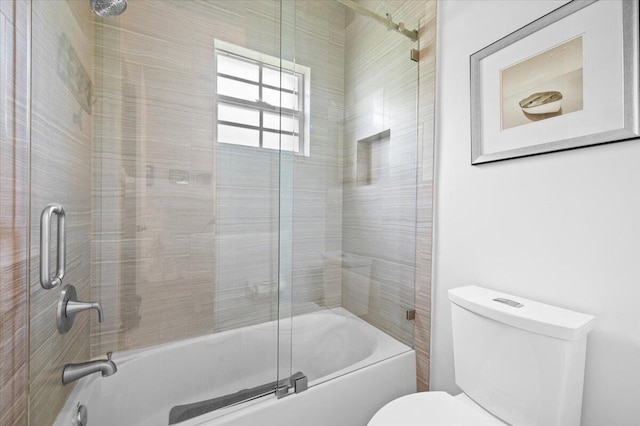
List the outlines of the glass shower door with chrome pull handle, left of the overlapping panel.
<svg viewBox="0 0 640 426">
<path fill-rule="evenodd" d="M 88 0 L 31 4 L 30 381 L 48 390 L 31 393 L 31 423 L 50 424 L 65 403 L 65 364 L 205 336 L 226 340 L 206 364 L 185 363 L 194 385 L 167 410 L 275 395 L 291 375 L 279 327 L 292 294 L 285 6 L 135 0 L 102 18 Z M 45 290 L 40 214 L 51 203 L 66 214 L 67 261 L 62 285 Z M 103 322 L 87 312 L 59 332 L 66 285 L 100 302 Z"/>
</svg>

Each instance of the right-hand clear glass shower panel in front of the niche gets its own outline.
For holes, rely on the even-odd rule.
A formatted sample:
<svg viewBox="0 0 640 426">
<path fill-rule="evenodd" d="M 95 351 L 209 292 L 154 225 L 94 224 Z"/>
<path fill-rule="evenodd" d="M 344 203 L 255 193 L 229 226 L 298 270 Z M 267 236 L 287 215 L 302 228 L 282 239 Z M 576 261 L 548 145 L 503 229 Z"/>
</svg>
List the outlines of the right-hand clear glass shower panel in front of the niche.
<svg viewBox="0 0 640 426">
<path fill-rule="evenodd" d="M 376 10 L 418 28 L 415 16 L 422 12 L 391 3 L 372 2 Z M 294 158 L 293 228 L 301 232 L 293 233 L 292 243 L 292 365 L 309 372 L 309 385 L 315 386 L 354 364 L 362 367 L 365 359 L 377 362 L 413 344 L 414 323 L 405 318 L 414 306 L 418 64 L 407 52 L 418 46 L 334 2 L 298 2 L 296 8 L 292 62 L 311 69 L 305 95 L 312 105 L 331 105 L 311 108 L 310 156 Z M 312 17 L 342 14 L 349 19 L 345 45 L 338 46 L 330 42 L 337 28 L 326 22 L 322 27 Z M 353 161 L 359 140 L 368 140 L 370 161 L 363 163 L 371 180 L 365 186 L 357 185 L 361 165 Z M 318 311 L 328 331 L 309 349 L 296 327 L 310 323 L 306 314 Z M 357 338 L 352 329 L 361 330 Z M 376 346 L 377 339 L 391 351 L 364 349 Z M 310 353 L 335 364 L 314 370 L 308 367 Z"/>
</svg>

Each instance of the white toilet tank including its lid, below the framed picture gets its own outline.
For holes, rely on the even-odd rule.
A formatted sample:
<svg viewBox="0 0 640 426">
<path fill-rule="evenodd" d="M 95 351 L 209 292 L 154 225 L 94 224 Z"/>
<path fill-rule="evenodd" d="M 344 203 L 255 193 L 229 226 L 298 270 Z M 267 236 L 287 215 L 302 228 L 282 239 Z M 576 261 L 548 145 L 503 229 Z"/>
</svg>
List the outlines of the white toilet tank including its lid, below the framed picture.
<svg viewBox="0 0 640 426">
<path fill-rule="evenodd" d="M 477 286 L 449 290 L 456 384 L 515 426 L 579 426 L 592 315 Z"/>
</svg>

